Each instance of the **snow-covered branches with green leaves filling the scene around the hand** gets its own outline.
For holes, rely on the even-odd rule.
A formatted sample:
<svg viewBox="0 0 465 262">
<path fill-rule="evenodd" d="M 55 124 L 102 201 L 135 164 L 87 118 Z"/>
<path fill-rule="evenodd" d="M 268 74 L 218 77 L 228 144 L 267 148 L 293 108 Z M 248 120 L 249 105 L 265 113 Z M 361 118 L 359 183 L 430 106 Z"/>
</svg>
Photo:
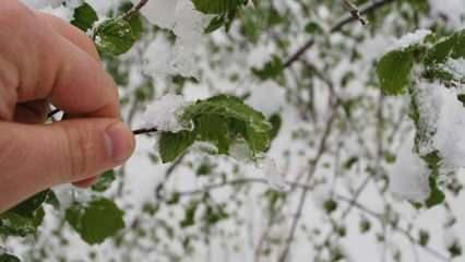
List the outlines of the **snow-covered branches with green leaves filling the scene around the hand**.
<svg viewBox="0 0 465 262">
<path fill-rule="evenodd" d="M 465 1 L 23 2 L 95 43 L 138 151 L 0 214 L 1 262 L 464 260 Z"/>
</svg>

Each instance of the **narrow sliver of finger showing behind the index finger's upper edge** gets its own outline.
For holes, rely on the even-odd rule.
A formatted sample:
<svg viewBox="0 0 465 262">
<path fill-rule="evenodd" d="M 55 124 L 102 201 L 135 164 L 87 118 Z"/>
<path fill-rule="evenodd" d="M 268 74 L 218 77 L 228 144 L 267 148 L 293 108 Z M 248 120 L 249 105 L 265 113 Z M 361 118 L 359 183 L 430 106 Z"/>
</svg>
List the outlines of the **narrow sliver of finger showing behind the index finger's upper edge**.
<svg viewBox="0 0 465 262">
<path fill-rule="evenodd" d="M 51 27 L 61 36 L 70 40 L 76 47 L 81 48 L 83 51 L 87 52 L 95 60 L 100 61 L 97 49 L 91 38 L 81 29 L 75 26 L 70 26 L 70 23 L 61 20 L 55 15 L 47 13 L 37 13 L 37 15 L 51 25 Z"/>
</svg>

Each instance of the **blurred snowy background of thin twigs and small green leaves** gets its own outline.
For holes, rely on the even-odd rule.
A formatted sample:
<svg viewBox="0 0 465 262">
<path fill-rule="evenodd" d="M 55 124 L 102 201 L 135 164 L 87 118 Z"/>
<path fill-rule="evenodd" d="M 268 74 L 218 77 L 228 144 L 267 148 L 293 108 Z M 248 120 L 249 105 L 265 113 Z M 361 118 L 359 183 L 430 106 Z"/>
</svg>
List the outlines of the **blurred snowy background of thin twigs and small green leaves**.
<svg viewBox="0 0 465 262">
<path fill-rule="evenodd" d="M 71 2 L 23 1 L 55 13 Z M 130 7 L 86 2 L 110 17 Z M 463 28 L 465 1 L 354 4 L 367 25 L 341 0 L 257 1 L 229 28 L 190 43 L 179 74 L 164 56 L 176 36 L 143 16 L 141 39 L 128 53 L 103 56 L 134 129 L 145 106 L 168 93 L 187 100 L 233 94 L 264 112 L 276 130 L 269 154 L 288 191 L 271 187 L 253 165 L 201 150 L 162 164 L 156 136 L 139 136 L 136 153 L 103 193 L 124 211 L 116 237 L 88 246 L 62 211 L 48 206 L 37 236 L 4 246 L 24 261 L 465 261 L 464 176 L 442 181 L 446 200 L 430 210 L 389 191 L 389 172 L 414 128 L 408 99 L 385 97 L 374 67 L 407 33 Z M 57 192 L 70 190 L 87 198 L 70 186 Z"/>
</svg>

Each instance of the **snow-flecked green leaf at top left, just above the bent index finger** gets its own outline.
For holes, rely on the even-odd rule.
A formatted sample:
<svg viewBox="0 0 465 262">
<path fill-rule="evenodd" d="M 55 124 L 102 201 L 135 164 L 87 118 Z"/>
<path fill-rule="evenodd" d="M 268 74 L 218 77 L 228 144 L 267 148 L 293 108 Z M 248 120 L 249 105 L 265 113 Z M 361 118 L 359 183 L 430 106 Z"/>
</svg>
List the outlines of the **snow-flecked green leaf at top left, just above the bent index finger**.
<svg viewBox="0 0 465 262">
<path fill-rule="evenodd" d="M 96 28 L 94 38 L 100 52 L 112 56 L 129 51 L 136 41 L 131 24 L 120 17 L 103 22 Z"/>
</svg>

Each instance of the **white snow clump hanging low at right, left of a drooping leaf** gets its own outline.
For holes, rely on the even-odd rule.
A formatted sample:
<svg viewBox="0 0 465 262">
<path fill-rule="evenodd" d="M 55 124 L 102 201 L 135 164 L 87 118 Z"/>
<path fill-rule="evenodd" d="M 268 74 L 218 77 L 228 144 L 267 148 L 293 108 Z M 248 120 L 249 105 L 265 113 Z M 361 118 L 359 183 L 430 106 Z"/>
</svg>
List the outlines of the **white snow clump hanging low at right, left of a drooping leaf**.
<svg viewBox="0 0 465 262">
<path fill-rule="evenodd" d="M 407 138 L 389 172 L 390 191 L 396 198 L 422 203 L 430 194 L 429 175 L 427 164 L 414 152 L 414 139 Z"/>
</svg>

